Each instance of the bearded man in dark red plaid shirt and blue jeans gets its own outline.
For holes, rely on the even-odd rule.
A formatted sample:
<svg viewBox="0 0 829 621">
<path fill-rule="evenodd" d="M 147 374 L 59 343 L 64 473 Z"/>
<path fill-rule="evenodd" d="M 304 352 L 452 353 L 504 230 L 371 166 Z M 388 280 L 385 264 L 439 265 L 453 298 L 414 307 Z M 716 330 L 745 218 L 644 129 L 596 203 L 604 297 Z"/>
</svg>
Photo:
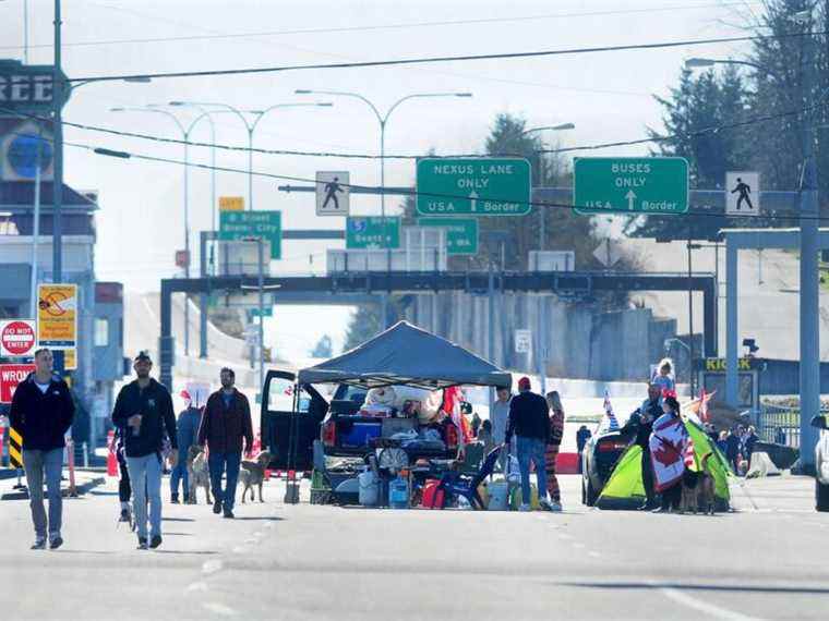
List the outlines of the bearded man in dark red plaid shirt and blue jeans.
<svg viewBox="0 0 829 621">
<path fill-rule="evenodd" d="M 233 518 L 236 500 L 236 483 L 239 479 L 239 467 L 242 462 L 242 441 L 244 452 L 253 448 L 253 424 L 248 398 L 239 392 L 236 383 L 236 373 L 231 368 L 223 368 L 219 375 L 221 388 L 211 394 L 199 428 L 199 445 L 207 442 L 209 456 L 207 465 L 211 468 L 211 487 L 213 487 L 213 512 L 223 512 L 225 518 Z M 225 490 L 221 489 L 221 474 L 227 477 Z"/>
</svg>

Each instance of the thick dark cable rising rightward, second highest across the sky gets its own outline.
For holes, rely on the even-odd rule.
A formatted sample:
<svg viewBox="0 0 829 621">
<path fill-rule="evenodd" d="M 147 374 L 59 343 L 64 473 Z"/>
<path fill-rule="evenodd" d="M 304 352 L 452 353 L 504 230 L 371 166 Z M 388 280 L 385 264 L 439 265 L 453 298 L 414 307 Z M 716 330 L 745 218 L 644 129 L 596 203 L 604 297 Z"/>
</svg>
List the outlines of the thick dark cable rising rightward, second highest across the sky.
<svg viewBox="0 0 829 621">
<path fill-rule="evenodd" d="M 736 44 L 747 41 L 762 41 L 771 39 L 790 39 L 813 35 L 826 35 L 827 31 L 805 32 L 805 33 L 784 33 L 772 35 L 749 35 L 742 37 L 718 37 L 709 39 L 686 39 L 680 41 L 659 41 L 652 44 L 630 44 L 623 46 L 597 46 L 589 48 L 565 48 L 558 50 L 539 50 L 522 52 L 501 52 L 484 54 L 459 54 L 459 56 L 440 56 L 440 57 L 421 57 L 409 59 L 392 60 L 369 60 L 355 62 L 331 62 L 316 64 L 293 64 L 281 66 L 261 66 L 243 69 L 218 69 L 204 71 L 177 71 L 164 73 L 130 73 L 119 75 L 91 75 L 85 77 L 73 77 L 68 82 L 115 82 L 124 80 L 161 80 L 168 77 L 215 77 L 219 75 L 254 75 L 262 73 L 281 73 L 289 71 L 309 71 L 309 70 L 339 70 L 339 69 L 364 69 L 370 66 L 407 66 L 417 64 L 444 63 L 444 62 L 469 62 L 478 60 L 512 60 L 518 58 L 545 58 L 556 56 L 575 56 L 582 53 L 600 53 L 633 50 L 654 50 L 678 47 L 705 46 L 712 44 Z"/>
</svg>

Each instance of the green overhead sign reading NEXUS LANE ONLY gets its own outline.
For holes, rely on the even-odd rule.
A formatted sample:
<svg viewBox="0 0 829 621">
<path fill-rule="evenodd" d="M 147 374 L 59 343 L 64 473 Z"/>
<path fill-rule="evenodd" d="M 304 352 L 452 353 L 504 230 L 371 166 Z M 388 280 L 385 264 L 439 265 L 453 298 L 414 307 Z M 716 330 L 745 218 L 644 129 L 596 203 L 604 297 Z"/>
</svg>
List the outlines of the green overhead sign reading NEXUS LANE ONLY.
<svg viewBox="0 0 829 621">
<path fill-rule="evenodd" d="M 530 162 L 521 158 L 422 158 L 417 186 L 421 216 L 530 212 Z"/>
</svg>

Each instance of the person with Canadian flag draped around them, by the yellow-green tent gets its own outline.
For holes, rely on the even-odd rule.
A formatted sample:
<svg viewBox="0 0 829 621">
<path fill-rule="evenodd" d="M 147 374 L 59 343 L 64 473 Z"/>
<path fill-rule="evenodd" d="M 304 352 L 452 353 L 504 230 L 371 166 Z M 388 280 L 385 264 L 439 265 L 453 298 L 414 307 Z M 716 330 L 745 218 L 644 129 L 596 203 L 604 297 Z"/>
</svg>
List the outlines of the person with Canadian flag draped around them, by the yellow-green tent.
<svg viewBox="0 0 829 621">
<path fill-rule="evenodd" d="M 682 500 L 682 479 L 685 474 L 685 453 L 690 438 L 680 416 L 676 393 L 665 391 L 662 401 L 664 414 L 653 423 L 650 435 L 650 455 L 656 490 L 662 495 L 662 506 L 654 512 L 677 510 Z"/>
</svg>

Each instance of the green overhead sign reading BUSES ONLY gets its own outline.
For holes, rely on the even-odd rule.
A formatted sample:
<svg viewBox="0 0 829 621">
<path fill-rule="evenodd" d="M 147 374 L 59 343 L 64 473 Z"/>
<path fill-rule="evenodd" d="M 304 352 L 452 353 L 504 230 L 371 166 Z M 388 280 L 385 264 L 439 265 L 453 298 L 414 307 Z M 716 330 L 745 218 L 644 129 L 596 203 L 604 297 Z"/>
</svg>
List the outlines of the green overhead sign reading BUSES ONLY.
<svg viewBox="0 0 829 621">
<path fill-rule="evenodd" d="M 688 162 L 681 157 L 579 157 L 573 205 L 578 214 L 685 214 Z"/>
</svg>

